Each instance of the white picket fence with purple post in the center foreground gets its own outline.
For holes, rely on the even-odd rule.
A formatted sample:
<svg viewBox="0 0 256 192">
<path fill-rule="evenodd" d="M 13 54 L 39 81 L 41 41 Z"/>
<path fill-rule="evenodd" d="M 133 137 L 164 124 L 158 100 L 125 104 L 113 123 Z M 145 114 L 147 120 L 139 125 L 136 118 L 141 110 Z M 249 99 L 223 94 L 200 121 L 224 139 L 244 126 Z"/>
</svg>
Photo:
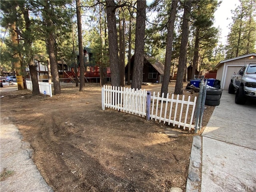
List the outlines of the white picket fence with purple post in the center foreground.
<svg viewBox="0 0 256 192">
<path fill-rule="evenodd" d="M 192 102 L 190 101 L 190 96 L 188 100 L 185 100 L 183 95 L 182 100 L 179 100 L 179 95 L 174 99 L 174 94 L 172 94 L 171 98 L 169 98 L 169 94 L 167 94 L 166 98 L 164 98 L 164 94 L 160 97 L 159 92 L 157 96 L 155 92 L 150 97 L 148 97 L 148 94 L 150 96 L 151 92 L 141 89 L 134 90 L 131 88 L 104 86 L 102 88 L 102 110 L 105 110 L 105 107 L 114 108 L 115 110 L 142 117 L 148 114 L 148 120 L 151 118 L 155 119 L 155 121 L 163 121 L 163 123 L 168 122 L 168 125 L 178 125 L 179 128 L 183 126 L 183 129 L 186 127 L 189 130 L 194 128 L 192 122 L 196 97 Z M 180 107 L 178 107 L 179 105 Z M 189 112 L 191 113 L 189 114 Z"/>
</svg>

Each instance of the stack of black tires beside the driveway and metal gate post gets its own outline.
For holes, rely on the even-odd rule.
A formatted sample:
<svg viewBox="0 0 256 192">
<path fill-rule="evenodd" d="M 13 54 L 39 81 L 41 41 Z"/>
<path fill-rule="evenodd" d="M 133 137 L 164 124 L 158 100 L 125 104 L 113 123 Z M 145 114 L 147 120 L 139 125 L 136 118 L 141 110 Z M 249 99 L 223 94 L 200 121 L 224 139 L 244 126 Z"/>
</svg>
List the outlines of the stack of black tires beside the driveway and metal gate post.
<svg viewBox="0 0 256 192">
<path fill-rule="evenodd" d="M 220 98 L 222 89 L 209 88 L 206 89 L 205 104 L 209 106 L 218 106 L 220 104 Z"/>
</svg>

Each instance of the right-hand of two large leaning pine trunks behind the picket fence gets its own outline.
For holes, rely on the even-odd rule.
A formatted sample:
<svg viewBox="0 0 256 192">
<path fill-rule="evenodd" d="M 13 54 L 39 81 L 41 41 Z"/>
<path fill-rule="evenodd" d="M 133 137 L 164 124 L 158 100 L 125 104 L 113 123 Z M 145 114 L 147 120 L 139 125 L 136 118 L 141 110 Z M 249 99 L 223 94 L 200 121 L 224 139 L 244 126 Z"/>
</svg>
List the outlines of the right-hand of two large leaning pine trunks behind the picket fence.
<svg viewBox="0 0 256 192">
<path fill-rule="evenodd" d="M 175 84 L 174 94 L 183 94 L 183 76 L 184 68 L 186 66 L 187 48 L 188 48 L 188 35 L 189 35 L 189 18 L 192 1 L 184 1 L 184 14 L 182 22 L 182 35 L 180 45 L 180 58 L 178 64 L 177 79 Z"/>
</svg>

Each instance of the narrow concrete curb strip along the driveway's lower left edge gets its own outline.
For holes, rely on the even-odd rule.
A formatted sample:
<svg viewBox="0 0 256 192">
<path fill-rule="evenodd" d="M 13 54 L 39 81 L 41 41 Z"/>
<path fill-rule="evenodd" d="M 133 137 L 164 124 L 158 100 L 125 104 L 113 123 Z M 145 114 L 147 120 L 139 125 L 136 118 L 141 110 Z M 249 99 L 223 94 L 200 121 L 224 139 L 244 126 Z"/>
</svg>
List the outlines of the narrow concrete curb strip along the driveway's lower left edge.
<svg viewBox="0 0 256 192">
<path fill-rule="evenodd" d="M 186 192 L 201 191 L 201 166 L 202 166 L 202 137 L 194 136 L 192 147 L 191 147 Z"/>
</svg>

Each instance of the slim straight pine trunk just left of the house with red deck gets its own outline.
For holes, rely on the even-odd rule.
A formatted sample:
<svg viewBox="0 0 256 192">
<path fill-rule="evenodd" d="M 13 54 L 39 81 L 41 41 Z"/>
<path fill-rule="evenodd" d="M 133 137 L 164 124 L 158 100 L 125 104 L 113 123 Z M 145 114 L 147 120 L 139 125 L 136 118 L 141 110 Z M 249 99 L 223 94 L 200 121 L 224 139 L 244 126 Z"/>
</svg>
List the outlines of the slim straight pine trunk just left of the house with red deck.
<svg viewBox="0 0 256 192">
<path fill-rule="evenodd" d="M 79 64 L 80 64 L 80 87 L 79 91 L 84 90 L 84 48 L 82 43 L 82 24 L 81 24 L 81 6 L 80 0 L 76 0 L 76 16 L 78 28 L 78 48 L 79 48 Z"/>
</svg>

